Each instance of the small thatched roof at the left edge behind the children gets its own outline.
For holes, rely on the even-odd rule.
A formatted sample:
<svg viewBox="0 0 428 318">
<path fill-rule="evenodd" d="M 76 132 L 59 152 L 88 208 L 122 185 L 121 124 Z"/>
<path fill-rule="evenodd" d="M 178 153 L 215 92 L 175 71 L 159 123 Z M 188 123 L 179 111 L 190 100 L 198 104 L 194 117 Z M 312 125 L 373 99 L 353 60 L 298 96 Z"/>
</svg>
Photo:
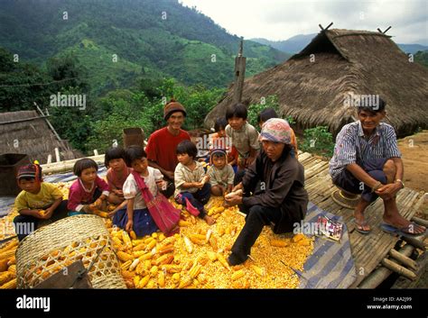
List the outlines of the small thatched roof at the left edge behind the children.
<svg viewBox="0 0 428 318">
<path fill-rule="evenodd" d="M 79 157 L 79 152 L 71 150 L 67 141 L 60 141 L 45 117 L 35 111 L 0 114 L 0 136 L 0 154 L 23 153 L 41 164 L 46 163 L 50 154 L 55 161 L 55 148 L 60 150 L 61 160 Z"/>
</svg>

